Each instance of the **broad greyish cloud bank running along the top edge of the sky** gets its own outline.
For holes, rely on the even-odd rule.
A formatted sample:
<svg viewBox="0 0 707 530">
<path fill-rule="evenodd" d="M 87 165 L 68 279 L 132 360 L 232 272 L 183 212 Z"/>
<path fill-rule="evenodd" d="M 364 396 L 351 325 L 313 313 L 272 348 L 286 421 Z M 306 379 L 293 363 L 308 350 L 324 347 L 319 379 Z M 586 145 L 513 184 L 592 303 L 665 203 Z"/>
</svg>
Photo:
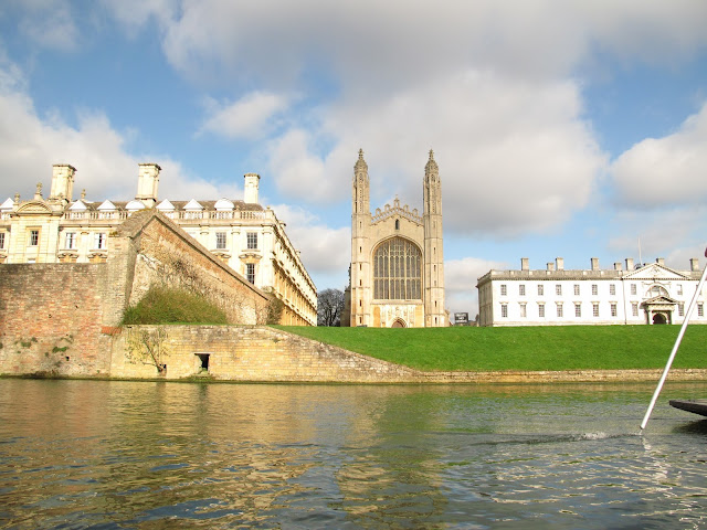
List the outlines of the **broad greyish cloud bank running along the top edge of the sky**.
<svg viewBox="0 0 707 530">
<path fill-rule="evenodd" d="M 215 72 L 273 82 L 299 80 L 314 61 L 359 94 L 420 78 L 494 67 L 505 75 L 566 75 L 598 47 L 669 63 L 707 40 L 699 0 L 552 2 L 513 8 L 495 0 L 184 2 L 165 52 L 186 75 Z M 306 59 L 309 57 L 309 59 Z M 464 66 L 465 65 L 465 66 Z"/>
</svg>

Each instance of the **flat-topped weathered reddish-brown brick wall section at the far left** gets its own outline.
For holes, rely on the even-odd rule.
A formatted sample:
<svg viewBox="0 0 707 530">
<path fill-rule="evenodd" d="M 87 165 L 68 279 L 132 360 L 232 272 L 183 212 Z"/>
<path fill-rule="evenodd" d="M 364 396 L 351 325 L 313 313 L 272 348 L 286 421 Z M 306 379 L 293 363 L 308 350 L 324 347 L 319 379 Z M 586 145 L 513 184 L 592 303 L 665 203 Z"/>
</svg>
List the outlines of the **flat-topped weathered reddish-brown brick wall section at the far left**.
<svg viewBox="0 0 707 530">
<path fill-rule="evenodd" d="M 103 375 L 102 264 L 0 265 L 0 373 Z"/>
</svg>

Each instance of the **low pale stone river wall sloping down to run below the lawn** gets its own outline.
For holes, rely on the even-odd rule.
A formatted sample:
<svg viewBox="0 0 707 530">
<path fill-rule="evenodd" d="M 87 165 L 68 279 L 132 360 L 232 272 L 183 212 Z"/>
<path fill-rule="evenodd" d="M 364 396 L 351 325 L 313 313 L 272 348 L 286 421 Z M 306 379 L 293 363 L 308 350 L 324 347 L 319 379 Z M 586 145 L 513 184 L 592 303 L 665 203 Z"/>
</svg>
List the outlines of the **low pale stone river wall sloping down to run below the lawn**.
<svg viewBox="0 0 707 530">
<path fill-rule="evenodd" d="M 161 333 L 161 336 L 160 336 Z M 167 365 L 144 363 L 144 343 L 159 343 Z M 208 359 L 208 361 L 205 361 Z M 204 362 L 205 361 L 205 362 Z M 202 368 L 207 365 L 208 368 Z M 135 326 L 113 343 L 116 378 L 344 383 L 657 382 L 661 370 L 422 372 L 324 344 L 279 329 L 238 326 Z M 673 370 L 671 380 L 705 380 L 707 370 Z"/>
</svg>

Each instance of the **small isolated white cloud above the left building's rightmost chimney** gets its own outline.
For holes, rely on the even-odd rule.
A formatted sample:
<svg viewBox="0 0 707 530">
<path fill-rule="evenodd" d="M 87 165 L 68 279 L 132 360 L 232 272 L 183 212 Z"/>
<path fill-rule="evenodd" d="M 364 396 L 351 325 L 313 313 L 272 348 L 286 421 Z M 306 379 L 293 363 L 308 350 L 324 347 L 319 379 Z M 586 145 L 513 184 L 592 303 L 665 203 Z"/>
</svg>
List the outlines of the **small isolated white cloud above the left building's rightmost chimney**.
<svg viewBox="0 0 707 530">
<path fill-rule="evenodd" d="M 273 119 L 287 108 L 287 97 L 265 92 L 252 92 L 231 104 L 219 104 L 209 98 L 205 102 L 208 117 L 199 134 L 260 139 L 272 130 Z"/>
</svg>

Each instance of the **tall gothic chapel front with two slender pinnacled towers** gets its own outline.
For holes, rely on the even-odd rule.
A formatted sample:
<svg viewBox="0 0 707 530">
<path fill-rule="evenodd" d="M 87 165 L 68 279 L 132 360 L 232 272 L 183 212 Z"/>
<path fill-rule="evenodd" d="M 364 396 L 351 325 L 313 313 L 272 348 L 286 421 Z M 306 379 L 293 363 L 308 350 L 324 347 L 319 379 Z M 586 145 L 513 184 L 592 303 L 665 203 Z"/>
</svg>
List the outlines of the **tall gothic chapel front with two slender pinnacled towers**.
<svg viewBox="0 0 707 530">
<path fill-rule="evenodd" d="M 449 326 L 444 308 L 442 183 L 433 152 L 423 179 L 423 212 L 386 204 L 370 211 L 363 151 L 354 167 L 351 266 L 342 325 Z"/>
</svg>

